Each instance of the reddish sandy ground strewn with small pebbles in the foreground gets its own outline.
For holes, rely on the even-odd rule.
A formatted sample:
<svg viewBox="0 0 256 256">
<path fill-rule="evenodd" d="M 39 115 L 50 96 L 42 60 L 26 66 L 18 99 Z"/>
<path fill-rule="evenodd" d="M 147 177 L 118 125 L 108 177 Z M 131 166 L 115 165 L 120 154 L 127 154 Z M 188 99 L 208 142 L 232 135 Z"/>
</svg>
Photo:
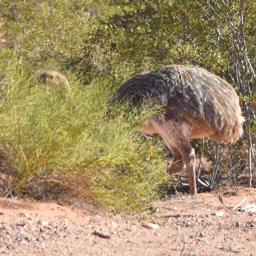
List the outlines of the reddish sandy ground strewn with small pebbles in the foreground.
<svg viewBox="0 0 256 256">
<path fill-rule="evenodd" d="M 226 206 L 219 190 L 165 199 L 139 215 L 0 198 L 0 255 L 256 255 L 256 213 L 231 209 L 245 197 L 241 206 L 256 204 L 256 189 L 223 189 Z"/>
</svg>

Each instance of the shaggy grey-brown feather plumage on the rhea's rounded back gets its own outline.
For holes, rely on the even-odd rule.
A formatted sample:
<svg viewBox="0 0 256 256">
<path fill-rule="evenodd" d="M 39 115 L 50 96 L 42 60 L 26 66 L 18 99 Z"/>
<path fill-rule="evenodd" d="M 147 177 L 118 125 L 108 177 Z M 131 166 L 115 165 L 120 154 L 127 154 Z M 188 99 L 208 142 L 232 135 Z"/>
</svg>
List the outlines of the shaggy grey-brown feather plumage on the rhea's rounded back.
<svg viewBox="0 0 256 256">
<path fill-rule="evenodd" d="M 165 119 L 190 125 L 191 136 L 212 135 L 218 142 L 235 142 L 242 134 L 243 117 L 233 87 L 196 66 L 169 65 L 135 75 L 117 90 L 115 101 L 133 105 L 149 99 L 149 107 L 165 106 Z M 193 135 L 194 134 L 194 135 Z"/>
</svg>

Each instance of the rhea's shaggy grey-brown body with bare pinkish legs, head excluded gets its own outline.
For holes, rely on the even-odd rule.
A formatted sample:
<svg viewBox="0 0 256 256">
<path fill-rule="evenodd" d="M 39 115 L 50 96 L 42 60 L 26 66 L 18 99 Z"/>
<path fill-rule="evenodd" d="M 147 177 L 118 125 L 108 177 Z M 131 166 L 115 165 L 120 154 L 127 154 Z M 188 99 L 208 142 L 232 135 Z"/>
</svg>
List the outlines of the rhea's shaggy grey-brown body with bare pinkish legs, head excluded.
<svg viewBox="0 0 256 256">
<path fill-rule="evenodd" d="M 190 139 L 211 135 L 217 142 L 233 143 L 243 133 L 239 98 L 222 78 L 197 66 L 169 65 L 139 73 L 116 91 L 114 103 L 131 100 L 133 106 L 148 100 L 164 106 L 162 115 L 141 127 L 144 134 L 161 135 L 174 161 L 168 173 L 187 169 L 190 194 L 197 196 L 195 151 Z"/>
</svg>

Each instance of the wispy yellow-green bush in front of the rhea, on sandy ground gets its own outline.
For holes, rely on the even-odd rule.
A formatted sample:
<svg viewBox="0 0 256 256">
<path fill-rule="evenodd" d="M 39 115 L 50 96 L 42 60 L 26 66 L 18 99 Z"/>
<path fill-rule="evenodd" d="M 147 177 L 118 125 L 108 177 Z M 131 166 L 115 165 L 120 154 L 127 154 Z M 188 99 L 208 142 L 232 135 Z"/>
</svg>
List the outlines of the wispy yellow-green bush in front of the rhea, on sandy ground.
<svg viewBox="0 0 256 256">
<path fill-rule="evenodd" d="M 115 87 L 110 78 L 82 86 L 70 77 L 69 94 L 34 85 L 35 76 L 15 59 L 4 77 L 0 150 L 15 156 L 6 194 L 30 195 L 61 183 L 126 211 L 142 209 L 157 196 L 166 181 L 161 142 L 134 130 L 157 110 L 141 107 L 127 113 L 127 107 L 119 106 L 114 118 L 106 120 L 110 88 Z"/>
</svg>

